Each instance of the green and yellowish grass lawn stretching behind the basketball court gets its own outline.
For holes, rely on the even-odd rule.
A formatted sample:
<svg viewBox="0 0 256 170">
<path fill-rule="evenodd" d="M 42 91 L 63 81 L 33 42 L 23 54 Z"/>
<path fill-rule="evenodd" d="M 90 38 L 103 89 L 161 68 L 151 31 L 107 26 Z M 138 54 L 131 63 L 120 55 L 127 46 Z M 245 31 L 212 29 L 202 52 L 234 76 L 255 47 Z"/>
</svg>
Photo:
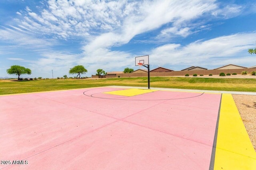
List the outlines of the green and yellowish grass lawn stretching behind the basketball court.
<svg viewBox="0 0 256 170">
<path fill-rule="evenodd" d="M 0 80 L 0 95 L 99 86 L 144 86 L 147 88 L 148 78 Z M 256 92 L 256 79 L 150 77 L 150 87 Z"/>
</svg>

